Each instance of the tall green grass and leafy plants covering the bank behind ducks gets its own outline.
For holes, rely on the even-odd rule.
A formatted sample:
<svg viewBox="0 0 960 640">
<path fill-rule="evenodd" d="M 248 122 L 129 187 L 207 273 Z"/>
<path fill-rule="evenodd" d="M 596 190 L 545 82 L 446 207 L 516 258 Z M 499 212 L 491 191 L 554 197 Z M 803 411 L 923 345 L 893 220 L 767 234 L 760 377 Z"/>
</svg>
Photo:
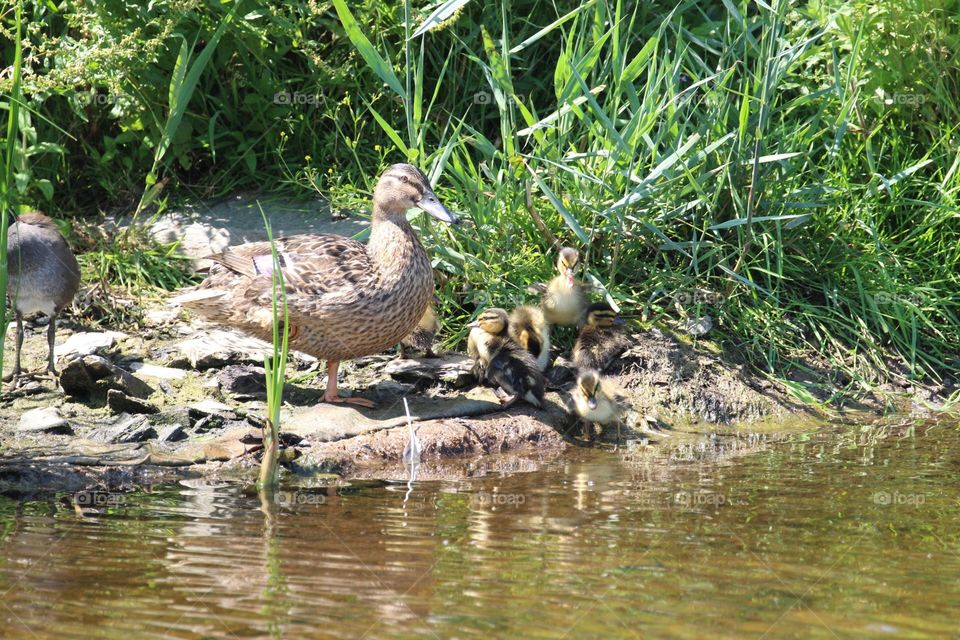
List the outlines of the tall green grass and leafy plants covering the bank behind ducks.
<svg viewBox="0 0 960 640">
<path fill-rule="evenodd" d="M 418 221 L 450 343 L 560 242 L 628 315 L 709 314 L 768 375 L 957 378 L 958 4 L 26 2 L 51 64 L 24 76 L 20 197 L 364 208 L 408 160 L 469 220 Z"/>
</svg>

